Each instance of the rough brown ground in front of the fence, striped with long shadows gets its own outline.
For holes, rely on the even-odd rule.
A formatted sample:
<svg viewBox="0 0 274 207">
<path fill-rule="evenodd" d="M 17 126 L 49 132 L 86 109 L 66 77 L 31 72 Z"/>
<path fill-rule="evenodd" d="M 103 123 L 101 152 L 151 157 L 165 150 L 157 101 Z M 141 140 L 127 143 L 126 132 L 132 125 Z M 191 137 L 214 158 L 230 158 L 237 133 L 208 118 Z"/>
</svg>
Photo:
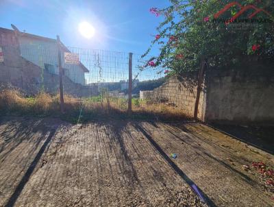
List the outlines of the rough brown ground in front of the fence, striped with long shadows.
<svg viewBox="0 0 274 207">
<path fill-rule="evenodd" d="M 274 206 L 259 161 L 201 123 L 1 117 L 0 206 Z"/>
</svg>

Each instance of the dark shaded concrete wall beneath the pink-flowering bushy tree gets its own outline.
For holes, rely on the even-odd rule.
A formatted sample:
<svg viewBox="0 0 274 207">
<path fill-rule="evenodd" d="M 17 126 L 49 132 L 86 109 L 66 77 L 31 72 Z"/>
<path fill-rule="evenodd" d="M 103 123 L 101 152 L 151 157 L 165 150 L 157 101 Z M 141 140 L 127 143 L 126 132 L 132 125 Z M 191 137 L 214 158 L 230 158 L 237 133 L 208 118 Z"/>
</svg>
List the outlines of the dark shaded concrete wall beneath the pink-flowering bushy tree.
<svg viewBox="0 0 274 207">
<path fill-rule="evenodd" d="M 208 71 L 205 107 L 208 122 L 273 124 L 273 67 Z"/>
</svg>

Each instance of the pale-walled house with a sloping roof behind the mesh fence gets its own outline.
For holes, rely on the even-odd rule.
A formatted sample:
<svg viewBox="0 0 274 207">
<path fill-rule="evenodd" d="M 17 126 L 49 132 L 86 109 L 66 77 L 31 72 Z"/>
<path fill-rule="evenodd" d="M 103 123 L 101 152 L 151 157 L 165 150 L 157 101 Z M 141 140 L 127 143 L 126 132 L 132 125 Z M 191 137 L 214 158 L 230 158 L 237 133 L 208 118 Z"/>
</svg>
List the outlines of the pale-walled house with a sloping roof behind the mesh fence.
<svg viewBox="0 0 274 207">
<path fill-rule="evenodd" d="M 12 31 L 12 30 L 11 30 Z M 14 32 L 14 31 L 12 31 Z M 17 32 L 21 56 L 26 60 L 40 66 L 49 73 L 58 75 L 58 47 L 55 39 Z M 64 52 L 71 52 L 62 44 L 61 59 L 64 75 L 77 84 L 85 85 L 85 73 L 88 69 L 81 62 L 79 64 L 65 64 Z"/>
</svg>

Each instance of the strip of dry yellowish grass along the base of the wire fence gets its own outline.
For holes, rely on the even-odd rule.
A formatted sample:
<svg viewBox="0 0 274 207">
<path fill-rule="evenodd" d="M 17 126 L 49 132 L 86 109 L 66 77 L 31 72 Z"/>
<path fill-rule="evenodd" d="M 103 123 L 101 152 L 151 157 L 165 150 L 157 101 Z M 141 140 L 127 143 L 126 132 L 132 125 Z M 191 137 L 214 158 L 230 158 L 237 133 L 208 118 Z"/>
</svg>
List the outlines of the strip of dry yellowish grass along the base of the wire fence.
<svg viewBox="0 0 274 207">
<path fill-rule="evenodd" d="M 149 103 L 133 99 L 132 110 L 134 117 L 140 119 L 182 119 L 189 118 L 180 108 L 167 106 L 165 103 Z M 66 117 L 71 121 L 79 121 L 79 112 L 82 120 L 97 119 L 104 114 L 112 117 L 125 118 L 127 114 L 127 100 L 112 97 L 90 97 L 79 99 L 70 95 L 64 95 L 65 114 L 60 114 L 60 95 L 39 93 L 34 97 L 25 97 L 18 90 L 0 90 L 0 112 L 36 114 L 39 116 L 56 115 Z"/>
</svg>

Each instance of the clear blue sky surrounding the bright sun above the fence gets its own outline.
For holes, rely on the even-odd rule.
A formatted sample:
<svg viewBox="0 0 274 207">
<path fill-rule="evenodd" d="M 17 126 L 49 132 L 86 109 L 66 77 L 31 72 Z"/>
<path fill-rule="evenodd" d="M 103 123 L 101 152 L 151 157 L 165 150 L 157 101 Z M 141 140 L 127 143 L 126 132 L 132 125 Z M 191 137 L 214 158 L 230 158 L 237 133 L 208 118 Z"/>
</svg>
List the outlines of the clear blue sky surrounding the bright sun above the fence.
<svg viewBox="0 0 274 207">
<path fill-rule="evenodd" d="M 149 8 L 164 8 L 168 0 L 1 0 L 0 27 L 16 25 L 27 33 L 55 38 L 67 46 L 142 54 L 149 47 L 162 17 Z M 84 38 L 78 25 L 88 21 L 95 36 Z M 151 51 L 157 55 L 158 48 Z"/>
</svg>

